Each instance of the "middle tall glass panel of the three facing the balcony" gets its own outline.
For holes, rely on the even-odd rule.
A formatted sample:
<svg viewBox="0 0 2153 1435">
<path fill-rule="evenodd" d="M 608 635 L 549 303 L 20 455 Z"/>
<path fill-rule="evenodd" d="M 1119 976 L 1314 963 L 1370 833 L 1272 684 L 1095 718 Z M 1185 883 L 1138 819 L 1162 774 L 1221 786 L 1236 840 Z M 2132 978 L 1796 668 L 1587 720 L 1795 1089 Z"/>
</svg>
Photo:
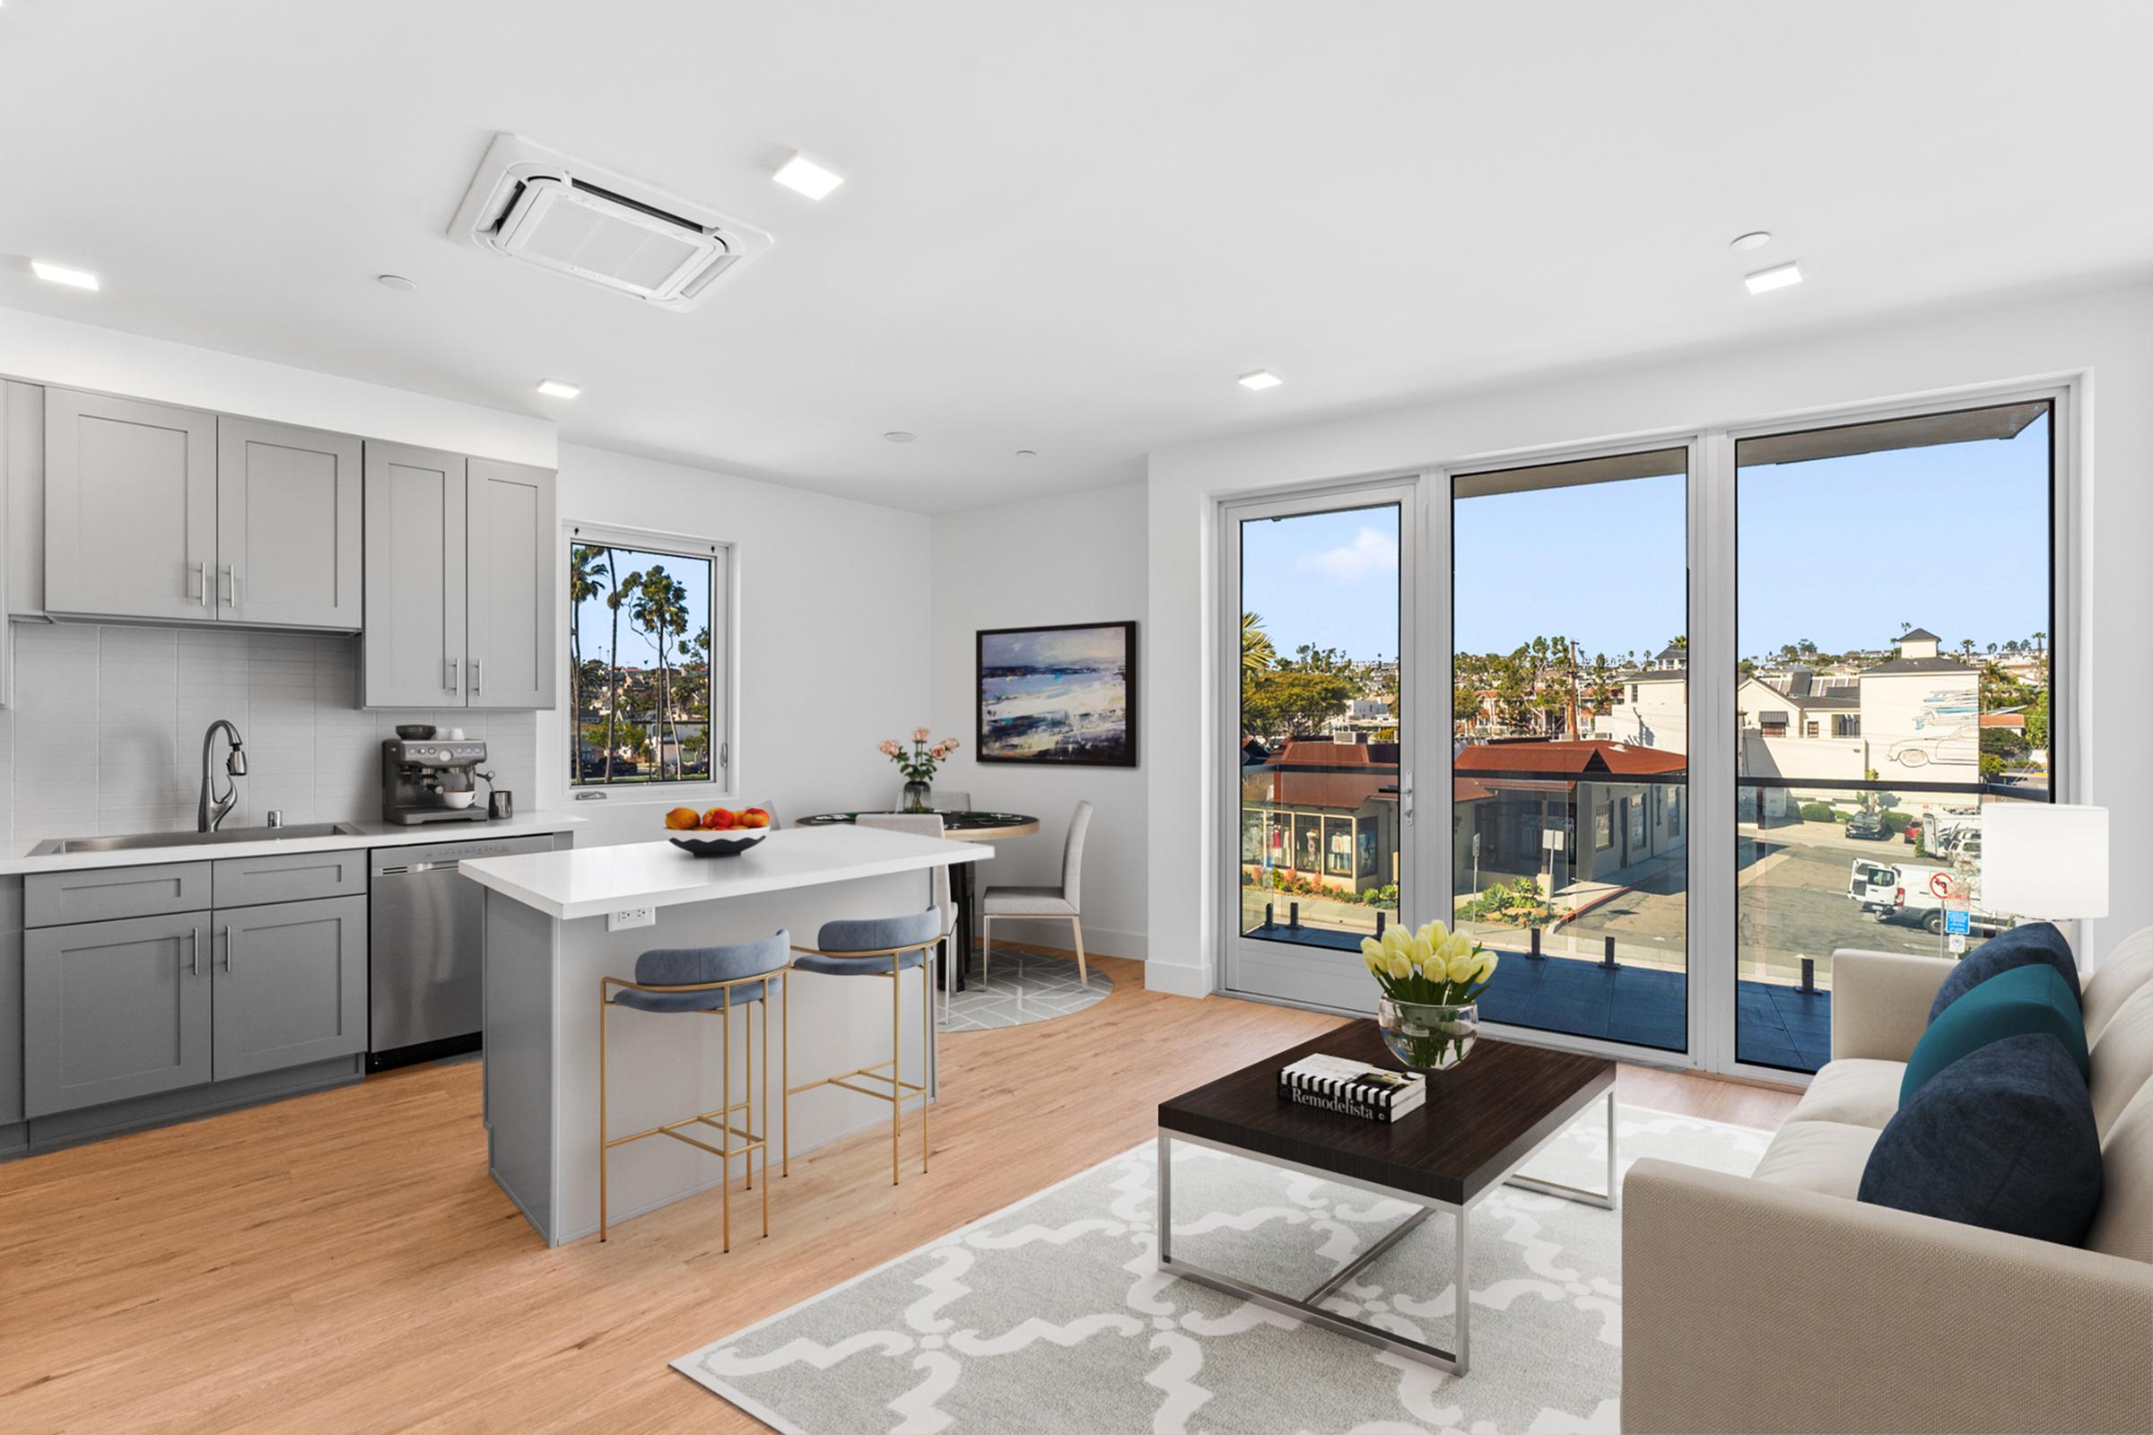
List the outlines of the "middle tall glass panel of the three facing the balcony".
<svg viewBox="0 0 2153 1435">
<path fill-rule="evenodd" d="M 1488 1020 L 1688 1050 L 1688 450 L 1451 480 L 1451 910 Z"/>
</svg>

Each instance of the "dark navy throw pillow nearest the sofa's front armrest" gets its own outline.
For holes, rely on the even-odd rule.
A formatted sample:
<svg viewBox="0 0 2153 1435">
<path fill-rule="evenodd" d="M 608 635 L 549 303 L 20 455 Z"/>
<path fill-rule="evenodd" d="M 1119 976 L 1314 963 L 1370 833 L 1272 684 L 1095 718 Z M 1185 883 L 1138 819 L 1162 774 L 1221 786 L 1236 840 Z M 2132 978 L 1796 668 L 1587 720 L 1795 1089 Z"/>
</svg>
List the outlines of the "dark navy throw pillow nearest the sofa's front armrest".
<svg viewBox="0 0 2153 1435">
<path fill-rule="evenodd" d="M 1860 1198 L 2078 1246 L 2101 1209 L 2101 1134 L 2078 1063 L 2048 1033 L 1959 1056 L 1884 1125 Z"/>
</svg>

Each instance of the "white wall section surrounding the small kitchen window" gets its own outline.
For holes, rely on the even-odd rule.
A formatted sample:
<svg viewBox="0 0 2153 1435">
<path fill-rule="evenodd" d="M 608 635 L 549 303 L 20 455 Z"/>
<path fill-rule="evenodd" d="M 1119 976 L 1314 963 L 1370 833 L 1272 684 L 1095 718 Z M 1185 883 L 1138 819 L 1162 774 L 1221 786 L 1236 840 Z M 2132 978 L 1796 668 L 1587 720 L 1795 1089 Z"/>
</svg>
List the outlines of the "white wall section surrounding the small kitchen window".
<svg viewBox="0 0 2153 1435">
<path fill-rule="evenodd" d="M 924 514 L 562 443 L 560 518 L 734 544 L 741 740 L 730 805 L 775 802 L 786 824 L 889 805 L 893 768 L 874 744 L 928 712 Z M 665 794 L 568 800 L 564 706 L 538 714 L 538 800 L 590 820 L 577 846 L 663 837 L 676 805 Z"/>
</svg>

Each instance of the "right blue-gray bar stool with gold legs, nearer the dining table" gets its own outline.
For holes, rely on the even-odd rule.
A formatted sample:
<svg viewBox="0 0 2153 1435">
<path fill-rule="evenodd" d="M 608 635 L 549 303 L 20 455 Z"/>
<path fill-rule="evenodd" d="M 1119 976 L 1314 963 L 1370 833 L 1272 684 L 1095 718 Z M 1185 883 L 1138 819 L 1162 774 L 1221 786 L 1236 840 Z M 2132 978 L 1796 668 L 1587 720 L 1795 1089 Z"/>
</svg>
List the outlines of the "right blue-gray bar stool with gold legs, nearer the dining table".
<svg viewBox="0 0 2153 1435">
<path fill-rule="evenodd" d="M 934 975 L 928 970 L 928 951 L 941 940 L 941 912 L 937 908 L 926 908 L 924 912 L 906 912 L 904 917 L 868 917 L 868 919 L 844 919 L 827 921 L 816 934 L 814 947 L 794 947 L 799 953 L 792 957 L 794 972 L 816 972 L 822 977 L 883 977 L 889 981 L 889 1061 L 876 1061 L 866 1067 L 855 1067 L 853 1071 L 840 1071 L 838 1076 L 825 1076 L 818 1082 L 801 1082 L 799 1086 L 786 1086 L 786 1099 L 779 1110 L 779 1121 L 784 1121 L 784 1147 L 782 1166 L 784 1175 L 792 1175 L 792 1097 L 801 1091 L 814 1091 L 816 1086 L 842 1086 L 844 1091 L 855 1091 L 863 1097 L 874 1097 L 876 1102 L 889 1102 L 889 1183 L 902 1183 L 898 1175 L 898 1142 L 904 1136 L 904 1099 L 906 1095 L 919 1095 L 919 1170 L 928 1168 L 928 1089 L 926 1080 L 909 1082 L 904 1080 L 904 1046 L 900 1039 L 900 1026 L 904 1022 L 904 985 L 898 981 L 900 972 L 906 968 L 919 968 L 919 1076 L 926 1076 L 926 1054 L 934 1043 Z M 792 1026 L 792 994 L 786 992 L 786 1065 L 784 1080 L 792 1080 L 790 1074 L 790 1026 Z M 889 1067 L 889 1074 L 883 1074 Z M 876 1091 L 870 1086 L 855 1086 L 853 1078 L 870 1082 L 889 1082 L 887 1091 Z M 764 1166 L 769 1170 L 769 1166 Z"/>
</svg>

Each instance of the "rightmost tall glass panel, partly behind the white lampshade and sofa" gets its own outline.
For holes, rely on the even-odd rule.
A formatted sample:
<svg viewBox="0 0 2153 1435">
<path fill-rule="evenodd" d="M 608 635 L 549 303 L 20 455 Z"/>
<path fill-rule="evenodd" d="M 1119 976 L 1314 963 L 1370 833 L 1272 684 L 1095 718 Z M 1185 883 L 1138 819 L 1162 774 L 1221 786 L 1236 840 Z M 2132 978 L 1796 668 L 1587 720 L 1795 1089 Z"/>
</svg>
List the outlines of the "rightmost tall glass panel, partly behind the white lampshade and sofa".
<svg viewBox="0 0 2153 1435">
<path fill-rule="evenodd" d="M 1735 445 L 1735 1059 L 1830 1056 L 1832 951 L 1953 955 L 1981 818 L 2048 800 L 2054 409 Z"/>
</svg>

